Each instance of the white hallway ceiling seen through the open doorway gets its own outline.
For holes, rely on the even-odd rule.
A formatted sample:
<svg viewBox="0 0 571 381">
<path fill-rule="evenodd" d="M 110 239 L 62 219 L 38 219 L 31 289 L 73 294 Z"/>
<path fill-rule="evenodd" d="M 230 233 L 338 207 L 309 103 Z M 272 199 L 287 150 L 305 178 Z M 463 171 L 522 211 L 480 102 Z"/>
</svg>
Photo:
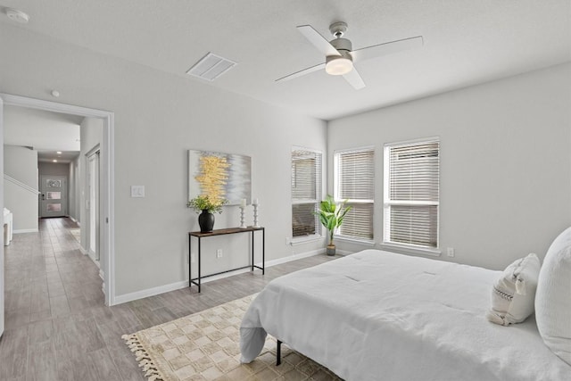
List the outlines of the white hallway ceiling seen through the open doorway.
<svg viewBox="0 0 571 381">
<path fill-rule="evenodd" d="M 39 162 L 70 162 L 79 154 L 82 120 L 75 115 L 6 105 L 4 145 L 32 147 Z"/>
</svg>

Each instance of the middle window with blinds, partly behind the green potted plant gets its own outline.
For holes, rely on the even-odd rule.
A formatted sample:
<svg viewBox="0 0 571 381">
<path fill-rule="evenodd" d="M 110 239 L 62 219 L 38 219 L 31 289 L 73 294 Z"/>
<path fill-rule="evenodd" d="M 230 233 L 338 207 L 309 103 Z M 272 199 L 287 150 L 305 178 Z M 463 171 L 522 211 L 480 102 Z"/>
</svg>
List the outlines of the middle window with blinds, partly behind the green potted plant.
<svg viewBox="0 0 571 381">
<path fill-rule="evenodd" d="M 352 206 L 339 236 L 373 239 L 375 206 L 375 150 L 362 148 L 335 153 L 335 200 Z"/>
</svg>

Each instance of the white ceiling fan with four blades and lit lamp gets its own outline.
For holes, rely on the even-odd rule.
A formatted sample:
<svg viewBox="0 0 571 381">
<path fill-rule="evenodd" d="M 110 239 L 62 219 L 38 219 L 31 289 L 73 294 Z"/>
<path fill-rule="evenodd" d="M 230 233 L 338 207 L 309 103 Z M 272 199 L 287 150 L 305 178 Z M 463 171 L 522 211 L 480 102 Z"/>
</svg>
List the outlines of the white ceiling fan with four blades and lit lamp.
<svg viewBox="0 0 571 381">
<path fill-rule="evenodd" d="M 343 21 L 337 21 L 329 25 L 329 31 L 333 37 L 335 37 L 331 41 L 327 41 L 325 37 L 321 36 L 319 32 L 310 25 L 301 25 L 297 27 L 297 30 L 299 30 L 313 46 L 317 47 L 321 54 L 326 56 L 325 62 L 276 79 L 276 82 L 294 79 L 325 68 L 327 74 L 342 75 L 343 79 L 349 82 L 352 87 L 359 90 L 365 87 L 365 82 L 360 78 L 359 72 L 354 68 L 353 63 L 423 45 L 422 36 L 417 36 L 352 50 L 351 41 L 347 38 L 343 38 L 343 35 L 347 31 L 347 24 Z"/>
</svg>

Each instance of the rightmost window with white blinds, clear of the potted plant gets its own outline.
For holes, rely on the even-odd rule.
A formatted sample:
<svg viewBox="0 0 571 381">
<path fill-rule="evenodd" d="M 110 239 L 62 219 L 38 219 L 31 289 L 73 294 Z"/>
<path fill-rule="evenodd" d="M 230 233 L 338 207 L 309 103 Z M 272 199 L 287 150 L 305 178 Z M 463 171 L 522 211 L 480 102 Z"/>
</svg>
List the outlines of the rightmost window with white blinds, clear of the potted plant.
<svg viewBox="0 0 571 381">
<path fill-rule="evenodd" d="M 440 143 L 385 145 L 386 244 L 438 247 Z"/>
</svg>

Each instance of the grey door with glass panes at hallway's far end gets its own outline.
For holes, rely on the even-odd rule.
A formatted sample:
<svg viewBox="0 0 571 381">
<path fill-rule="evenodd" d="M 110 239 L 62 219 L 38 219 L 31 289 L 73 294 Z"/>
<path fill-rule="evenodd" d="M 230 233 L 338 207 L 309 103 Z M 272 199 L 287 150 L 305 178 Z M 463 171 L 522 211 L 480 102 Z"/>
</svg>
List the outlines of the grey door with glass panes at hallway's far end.
<svg viewBox="0 0 571 381">
<path fill-rule="evenodd" d="M 39 216 L 41 218 L 67 216 L 67 190 L 67 176 L 41 176 Z"/>
</svg>

